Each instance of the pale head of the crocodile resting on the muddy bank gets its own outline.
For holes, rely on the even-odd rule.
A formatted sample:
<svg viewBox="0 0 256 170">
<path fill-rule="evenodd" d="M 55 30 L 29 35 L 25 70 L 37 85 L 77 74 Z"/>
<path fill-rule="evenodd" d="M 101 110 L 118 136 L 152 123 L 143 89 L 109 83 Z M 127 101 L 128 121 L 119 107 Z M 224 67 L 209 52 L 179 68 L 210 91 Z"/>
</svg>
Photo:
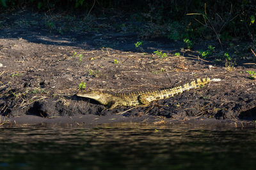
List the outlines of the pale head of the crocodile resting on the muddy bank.
<svg viewBox="0 0 256 170">
<path fill-rule="evenodd" d="M 90 98 L 104 105 L 109 104 L 109 102 L 113 100 L 113 96 L 111 94 L 94 90 L 81 90 L 77 92 L 76 96 Z"/>
</svg>

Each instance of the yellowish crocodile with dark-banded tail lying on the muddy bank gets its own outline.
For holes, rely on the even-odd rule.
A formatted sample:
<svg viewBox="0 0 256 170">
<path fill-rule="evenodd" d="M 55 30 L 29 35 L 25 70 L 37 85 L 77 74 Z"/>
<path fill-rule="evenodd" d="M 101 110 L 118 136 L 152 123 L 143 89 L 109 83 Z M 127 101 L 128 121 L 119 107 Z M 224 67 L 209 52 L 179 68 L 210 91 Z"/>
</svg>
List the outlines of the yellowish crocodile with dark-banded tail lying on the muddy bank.
<svg viewBox="0 0 256 170">
<path fill-rule="evenodd" d="M 148 104 L 152 101 L 173 97 L 175 94 L 180 94 L 190 89 L 202 87 L 211 81 L 220 81 L 220 79 L 198 78 L 191 83 L 186 83 L 184 85 L 180 85 L 179 87 L 147 92 L 140 91 L 122 94 L 109 94 L 107 92 L 100 92 L 95 90 L 81 90 L 77 92 L 76 95 L 79 97 L 94 99 L 100 104 L 108 106 L 109 110 L 113 110 L 113 108 L 115 108 L 116 106 L 148 106 Z"/>
</svg>

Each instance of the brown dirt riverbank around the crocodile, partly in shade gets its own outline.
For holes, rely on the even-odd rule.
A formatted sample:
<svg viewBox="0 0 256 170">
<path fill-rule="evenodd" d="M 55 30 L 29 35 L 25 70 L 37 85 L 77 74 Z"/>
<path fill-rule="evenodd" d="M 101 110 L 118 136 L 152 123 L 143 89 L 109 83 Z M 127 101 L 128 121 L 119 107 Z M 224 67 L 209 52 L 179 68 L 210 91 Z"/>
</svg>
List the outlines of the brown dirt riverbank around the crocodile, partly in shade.
<svg viewBox="0 0 256 170">
<path fill-rule="evenodd" d="M 225 63 L 216 60 L 214 54 L 205 59 L 198 57 L 198 50 L 208 45 L 220 49 L 218 41 L 198 41 L 193 50 L 186 50 L 182 41 L 158 38 L 143 40 L 136 48 L 134 43 L 141 41 L 136 32 L 113 26 L 122 25 L 125 16 L 93 19 L 91 25 L 97 29 L 85 31 L 79 22 L 60 15 L 53 16 L 51 25 L 50 17 L 28 10 L 0 13 L 3 117 L 109 118 L 125 111 L 123 117 L 146 120 L 148 116 L 166 122 L 186 117 L 256 120 L 256 81 L 246 73 L 256 71 L 255 62 L 237 59 L 236 64 Z M 68 29 L 58 29 L 61 24 Z M 157 56 L 157 50 L 167 57 Z M 175 55 L 177 52 L 180 56 Z M 123 93 L 176 87 L 205 77 L 221 81 L 132 110 L 126 106 L 106 110 L 96 101 L 76 96 L 81 81 L 86 88 Z"/>
</svg>

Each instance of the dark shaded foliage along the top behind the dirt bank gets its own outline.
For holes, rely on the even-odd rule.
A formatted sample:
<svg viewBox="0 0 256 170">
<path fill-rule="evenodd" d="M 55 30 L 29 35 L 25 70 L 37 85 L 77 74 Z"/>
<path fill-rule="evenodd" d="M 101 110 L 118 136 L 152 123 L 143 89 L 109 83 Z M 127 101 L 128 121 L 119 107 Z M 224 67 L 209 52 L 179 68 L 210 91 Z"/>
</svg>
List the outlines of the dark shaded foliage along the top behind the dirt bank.
<svg viewBox="0 0 256 170">
<path fill-rule="evenodd" d="M 256 34 L 256 4 L 250 0 L 0 0 L 0 8 L 1 11 L 31 8 L 35 11 L 93 15 L 106 15 L 107 11 L 127 12 L 132 13 L 134 20 L 164 25 L 162 33 L 170 39 L 188 36 L 207 39 L 208 35 L 212 35 L 221 40 L 238 38 L 255 41 Z M 173 29 L 178 32 L 173 33 Z"/>
</svg>

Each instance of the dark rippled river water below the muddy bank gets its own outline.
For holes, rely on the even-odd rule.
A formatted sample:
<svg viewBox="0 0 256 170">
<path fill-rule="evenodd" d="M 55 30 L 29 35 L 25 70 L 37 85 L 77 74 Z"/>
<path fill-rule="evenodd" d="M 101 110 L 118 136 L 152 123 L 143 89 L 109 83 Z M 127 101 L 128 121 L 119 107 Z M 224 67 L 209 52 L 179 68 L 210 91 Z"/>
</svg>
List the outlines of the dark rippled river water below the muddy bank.
<svg viewBox="0 0 256 170">
<path fill-rule="evenodd" d="M 254 169 L 255 129 L 0 129 L 0 169 Z"/>
</svg>

